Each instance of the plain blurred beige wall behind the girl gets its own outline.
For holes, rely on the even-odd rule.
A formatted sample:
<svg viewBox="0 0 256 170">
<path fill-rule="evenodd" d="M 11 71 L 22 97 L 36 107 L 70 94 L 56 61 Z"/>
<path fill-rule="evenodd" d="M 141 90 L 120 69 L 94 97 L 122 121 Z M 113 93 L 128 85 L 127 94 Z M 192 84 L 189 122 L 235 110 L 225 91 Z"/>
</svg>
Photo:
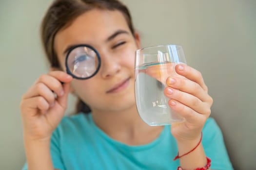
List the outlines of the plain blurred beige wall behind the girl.
<svg viewBox="0 0 256 170">
<path fill-rule="evenodd" d="M 19 103 L 47 72 L 39 23 L 52 0 L 0 0 L 0 169 L 25 161 Z M 256 158 L 256 0 L 123 0 L 142 46 L 179 44 L 200 70 L 214 98 L 212 117 L 222 128 L 236 170 Z M 69 111 L 74 99 L 70 97 Z M 68 111 L 68 112 L 69 112 Z"/>
</svg>

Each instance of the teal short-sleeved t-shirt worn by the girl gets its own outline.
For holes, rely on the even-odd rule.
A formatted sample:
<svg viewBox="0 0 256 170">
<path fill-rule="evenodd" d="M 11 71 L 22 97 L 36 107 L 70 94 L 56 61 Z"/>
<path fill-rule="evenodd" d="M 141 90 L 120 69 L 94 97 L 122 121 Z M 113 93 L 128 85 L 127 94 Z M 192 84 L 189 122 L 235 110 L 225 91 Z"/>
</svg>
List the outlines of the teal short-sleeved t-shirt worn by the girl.
<svg viewBox="0 0 256 170">
<path fill-rule="evenodd" d="M 212 118 L 203 128 L 202 144 L 212 160 L 211 169 L 233 170 Z M 64 117 L 52 135 L 50 149 L 54 168 L 59 170 L 177 170 L 179 166 L 179 160 L 173 161 L 178 150 L 170 125 L 151 143 L 129 146 L 106 135 L 91 114 Z"/>
</svg>

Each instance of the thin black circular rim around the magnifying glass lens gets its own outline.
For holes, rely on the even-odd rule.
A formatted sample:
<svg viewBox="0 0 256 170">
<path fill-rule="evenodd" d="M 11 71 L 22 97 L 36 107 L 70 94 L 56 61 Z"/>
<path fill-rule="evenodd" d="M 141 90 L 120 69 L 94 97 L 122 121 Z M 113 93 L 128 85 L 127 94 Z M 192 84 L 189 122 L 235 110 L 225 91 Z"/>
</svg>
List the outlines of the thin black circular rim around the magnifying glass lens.
<svg viewBox="0 0 256 170">
<path fill-rule="evenodd" d="M 94 72 L 91 76 L 89 76 L 89 77 L 84 77 L 84 78 L 77 77 L 77 76 L 75 76 L 75 75 L 69 70 L 69 68 L 68 68 L 68 56 L 69 56 L 69 54 L 70 54 L 74 49 L 76 49 L 76 48 L 78 48 L 78 47 L 88 47 L 88 48 L 92 49 L 92 50 L 96 53 L 96 55 L 97 55 L 97 58 L 98 58 L 98 67 L 97 67 L 97 69 L 95 70 L 95 72 Z M 71 75 L 73 78 L 76 78 L 76 79 L 79 79 L 79 80 L 86 80 L 86 79 L 89 79 L 89 78 L 95 76 L 95 74 L 98 73 L 98 70 L 99 70 L 99 68 L 100 68 L 100 65 L 101 65 L 101 60 L 100 60 L 100 56 L 99 56 L 98 51 L 97 51 L 94 47 L 92 47 L 92 46 L 90 46 L 90 45 L 88 45 L 88 44 L 78 44 L 78 45 L 76 45 L 76 46 L 73 46 L 72 48 L 69 49 L 69 51 L 68 51 L 68 53 L 67 53 L 67 55 L 66 55 L 65 66 L 66 66 L 66 69 L 67 69 L 67 73 L 68 73 L 69 75 Z"/>
</svg>

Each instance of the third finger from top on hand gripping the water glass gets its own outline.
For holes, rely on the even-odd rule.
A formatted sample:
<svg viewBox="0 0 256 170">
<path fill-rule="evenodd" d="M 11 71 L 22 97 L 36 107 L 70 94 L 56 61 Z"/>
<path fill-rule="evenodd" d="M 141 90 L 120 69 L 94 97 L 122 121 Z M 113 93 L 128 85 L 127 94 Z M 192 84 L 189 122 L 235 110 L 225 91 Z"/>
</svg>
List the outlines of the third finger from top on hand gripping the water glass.
<svg viewBox="0 0 256 170">
<path fill-rule="evenodd" d="M 167 87 L 164 89 L 164 94 L 168 98 L 170 98 L 172 100 L 176 100 L 176 101 L 190 107 L 197 113 L 206 114 L 206 115 L 211 114 L 211 109 L 207 102 L 202 102 L 197 97 L 195 97 L 189 93 L 185 93 L 183 91 Z"/>
</svg>

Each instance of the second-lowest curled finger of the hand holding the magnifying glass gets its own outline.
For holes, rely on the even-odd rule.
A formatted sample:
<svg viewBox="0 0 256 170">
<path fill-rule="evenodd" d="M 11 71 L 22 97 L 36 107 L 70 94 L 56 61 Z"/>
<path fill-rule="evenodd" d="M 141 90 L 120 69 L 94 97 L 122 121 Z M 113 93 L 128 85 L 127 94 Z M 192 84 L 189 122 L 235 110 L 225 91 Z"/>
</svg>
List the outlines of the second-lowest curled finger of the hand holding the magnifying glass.
<svg viewBox="0 0 256 170">
<path fill-rule="evenodd" d="M 52 90 L 50 90 L 48 86 L 41 82 L 36 85 L 33 85 L 24 95 L 25 99 L 36 96 L 42 96 L 50 105 L 53 105 L 55 101 L 55 95 L 52 92 Z"/>
</svg>

